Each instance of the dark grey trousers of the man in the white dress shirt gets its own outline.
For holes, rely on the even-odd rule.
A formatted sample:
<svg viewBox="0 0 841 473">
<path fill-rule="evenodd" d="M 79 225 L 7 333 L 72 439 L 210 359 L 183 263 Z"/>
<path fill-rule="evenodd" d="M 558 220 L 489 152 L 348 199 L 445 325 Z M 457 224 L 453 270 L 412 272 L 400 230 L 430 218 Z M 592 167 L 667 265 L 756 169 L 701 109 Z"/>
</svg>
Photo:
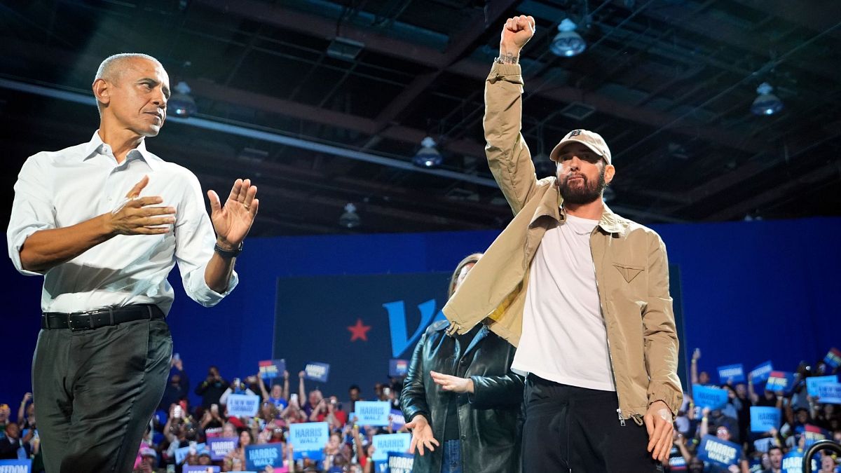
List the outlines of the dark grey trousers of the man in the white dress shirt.
<svg viewBox="0 0 841 473">
<path fill-rule="evenodd" d="M 46 472 L 131 471 L 171 357 L 162 320 L 41 330 L 32 392 Z"/>
</svg>

